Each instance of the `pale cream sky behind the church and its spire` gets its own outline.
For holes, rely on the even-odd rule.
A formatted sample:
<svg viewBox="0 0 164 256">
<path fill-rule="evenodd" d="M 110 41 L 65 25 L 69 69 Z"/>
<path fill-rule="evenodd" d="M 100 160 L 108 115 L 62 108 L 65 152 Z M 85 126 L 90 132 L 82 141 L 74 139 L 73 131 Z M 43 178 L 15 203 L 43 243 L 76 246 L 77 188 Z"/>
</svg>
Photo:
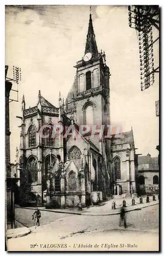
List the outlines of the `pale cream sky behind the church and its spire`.
<svg viewBox="0 0 164 256">
<path fill-rule="evenodd" d="M 66 98 L 84 56 L 89 6 L 6 7 L 6 59 L 8 77 L 13 66 L 21 68 L 18 102 L 10 103 L 11 162 L 20 144 L 21 100 L 35 106 L 38 91 L 58 106 L 59 91 Z M 137 154 L 157 156 L 159 118 L 158 73 L 149 89 L 140 91 L 139 50 L 135 29 L 128 24 L 127 6 L 92 6 L 93 28 L 99 52 L 105 51 L 110 76 L 111 123 L 123 132 L 133 127 Z M 158 31 L 153 30 L 154 39 Z M 154 44 L 154 67 L 158 66 L 158 41 Z M 16 84 L 13 84 L 13 89 Z M 16 99 L 16 93 L 11 93 Z"/>
</svg>

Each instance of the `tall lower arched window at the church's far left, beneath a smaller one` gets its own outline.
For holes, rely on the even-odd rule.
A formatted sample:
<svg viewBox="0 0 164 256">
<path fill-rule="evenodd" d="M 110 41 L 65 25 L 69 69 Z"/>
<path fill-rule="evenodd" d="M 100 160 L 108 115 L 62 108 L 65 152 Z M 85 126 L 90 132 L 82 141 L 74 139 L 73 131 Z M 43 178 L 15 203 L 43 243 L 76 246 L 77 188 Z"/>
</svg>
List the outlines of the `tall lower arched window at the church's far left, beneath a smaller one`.
<svg viewBox="0 0 164 256">
<path fill-rule="evenodd" d="M 27 173 L 28 173 L 28 182 L 36 182 L 38 180 L 37 178 L 37 160 L 35 157 L 30 157 L 28 160 L 27 166 Z"/>
</svg>

